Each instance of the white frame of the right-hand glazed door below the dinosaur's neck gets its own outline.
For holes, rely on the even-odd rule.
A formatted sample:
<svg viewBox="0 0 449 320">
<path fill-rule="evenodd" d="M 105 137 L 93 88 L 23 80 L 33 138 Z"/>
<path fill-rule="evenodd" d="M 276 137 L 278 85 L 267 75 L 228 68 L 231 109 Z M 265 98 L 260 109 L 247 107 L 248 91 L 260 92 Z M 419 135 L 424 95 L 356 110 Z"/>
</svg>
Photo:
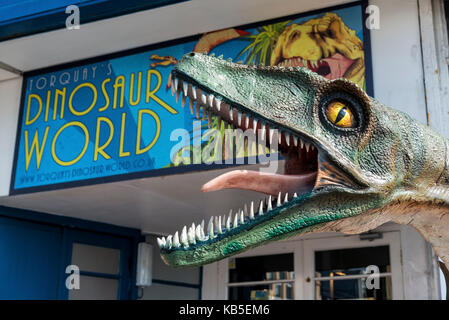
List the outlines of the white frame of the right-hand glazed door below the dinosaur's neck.
<svg viewBox="0 0 449 320">
<path fill-rule="evenodd" d="M 401 235 L 398 231 L 383 232 L 382 238 L 372 241 L 361 241 L 358 235 L 336 236 L 325 239 L 304 240 L 304 276 L 303 297 L 306 300 L 315 299 L 315 252 L 338 249 L 366 248 L 389 246 L 391 266 L 391 286 L 393 300 L 404 297 L 401 265 Z M 310 279 L 307 281 L 307 279 Z"/>
</svg>

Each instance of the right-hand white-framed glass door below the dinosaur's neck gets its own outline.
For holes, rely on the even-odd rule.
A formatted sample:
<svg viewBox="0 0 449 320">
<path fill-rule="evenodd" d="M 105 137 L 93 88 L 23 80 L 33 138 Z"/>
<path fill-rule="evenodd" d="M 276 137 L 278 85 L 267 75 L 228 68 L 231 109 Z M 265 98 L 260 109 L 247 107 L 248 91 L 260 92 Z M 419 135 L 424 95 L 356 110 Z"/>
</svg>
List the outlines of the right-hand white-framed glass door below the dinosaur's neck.
<svg viewBox="0 0 449 320">
<path fill-rule="evenodd" d="M 305 297 L 315 300 L 402 298 L 398 232 L 305 240 Z"/>
</svg>

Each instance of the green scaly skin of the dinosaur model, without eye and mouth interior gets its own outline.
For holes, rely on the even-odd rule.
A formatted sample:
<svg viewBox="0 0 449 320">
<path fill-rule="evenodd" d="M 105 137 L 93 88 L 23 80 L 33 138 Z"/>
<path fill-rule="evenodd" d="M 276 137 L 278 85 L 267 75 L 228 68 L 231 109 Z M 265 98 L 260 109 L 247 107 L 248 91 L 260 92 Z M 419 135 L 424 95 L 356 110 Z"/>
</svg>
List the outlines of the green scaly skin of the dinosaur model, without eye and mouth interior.
<svg viewBox="0 0 449 320">
<path fill-rule="evenodd" d="M 449 226 L 447 139 L 348 80 L 330 81 L 304 68 L 247 66 L 190 53 L 173 76 L 313 144 L 318 178 L 311 192 L 212 240 L 161 249 L 167 264 L 199 266 L 298 234 L 360 233 L 387 221 L 417 228 L 448 263 L 449 237 L 435 228 Z M 337 128 L 325 118 L 323 108 L 340 98 L 354 107 L 357 127 Z M 325 165 L 330 176 L 323 175 Z"/>
</svg>

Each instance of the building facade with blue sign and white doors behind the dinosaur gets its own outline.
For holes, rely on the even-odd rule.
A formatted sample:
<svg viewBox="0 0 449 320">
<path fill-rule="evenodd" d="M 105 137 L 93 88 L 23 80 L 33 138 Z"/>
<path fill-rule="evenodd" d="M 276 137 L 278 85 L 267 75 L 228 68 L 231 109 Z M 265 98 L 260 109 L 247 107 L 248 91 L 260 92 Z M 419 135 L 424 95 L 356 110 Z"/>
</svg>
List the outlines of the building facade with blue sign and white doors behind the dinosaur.
<svg viewBox="0 0 449 320">
<path fill-rule="evenodd" d="M 358 59 L 351 80 L 449 137 L 448 1 L 32 2 L 0 8 L 0 299 L 445 297 L 437 255 L 409 226 L 296 237 L 186 269 L 162 262 L 156 238 L 255 195 L 200 191 L 235 163 L 185 159 L 208 120 L 170 94 L 184 53 L 279 63 L 286 26 L 331 19 L 360 52 L 288 63 L 335 78 L 347 73 L 333 63 Z M 271 55 L 257 54 L 257 35 Z M 177 129 L 193 148 L 173 149 Z M 262 166 L 248 159 L 238 167 Z M 153 247 L 146 286 L 136 285 L 141 243 Z"/>
</svg>

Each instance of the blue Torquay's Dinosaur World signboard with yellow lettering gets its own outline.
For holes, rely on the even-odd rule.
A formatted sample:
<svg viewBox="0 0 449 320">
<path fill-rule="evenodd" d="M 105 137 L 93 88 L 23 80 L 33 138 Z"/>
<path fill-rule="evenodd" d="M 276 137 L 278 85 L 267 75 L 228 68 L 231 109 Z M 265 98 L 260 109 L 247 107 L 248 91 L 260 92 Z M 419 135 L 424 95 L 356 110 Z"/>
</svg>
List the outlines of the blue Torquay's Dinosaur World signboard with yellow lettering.
<svg viewBox="0 0 449 320">
<path fill-rule="evenodd" d="M 313 65 L 307 64 L 307 57 L 274 56 L 272 44 L 286 39 L 283 32 L 311 24 L 343 30 L 337 35 L 341 43 L 334 41 L 328 50 L 332 55 Z M 200 116 L 198 123 L 195 112 L 183 108 L 171 93 L 170 71 L 185 53 L 206 51 L 266 65 L 320 66 L 314 71 L 329 79 L 354 77 L 351 80 L 370 91 L 367 35 L 363 3 L 355 3 L 29 72 L 24 77 L 11 193 L 211 168 L 176 160 L 190 157 L 186 152 L 195 141 L 180 143 L 173 133 L 207 128 L 209 121 Z M 345 38 L 360 43 L 358 49 L 352 45 L 348 53 L 339 48 Z M 322 45 L 313 35 L 296 41 Z M 350 68 L 355 62 L 361 66 L 358 72 Z"/>
</svg>

